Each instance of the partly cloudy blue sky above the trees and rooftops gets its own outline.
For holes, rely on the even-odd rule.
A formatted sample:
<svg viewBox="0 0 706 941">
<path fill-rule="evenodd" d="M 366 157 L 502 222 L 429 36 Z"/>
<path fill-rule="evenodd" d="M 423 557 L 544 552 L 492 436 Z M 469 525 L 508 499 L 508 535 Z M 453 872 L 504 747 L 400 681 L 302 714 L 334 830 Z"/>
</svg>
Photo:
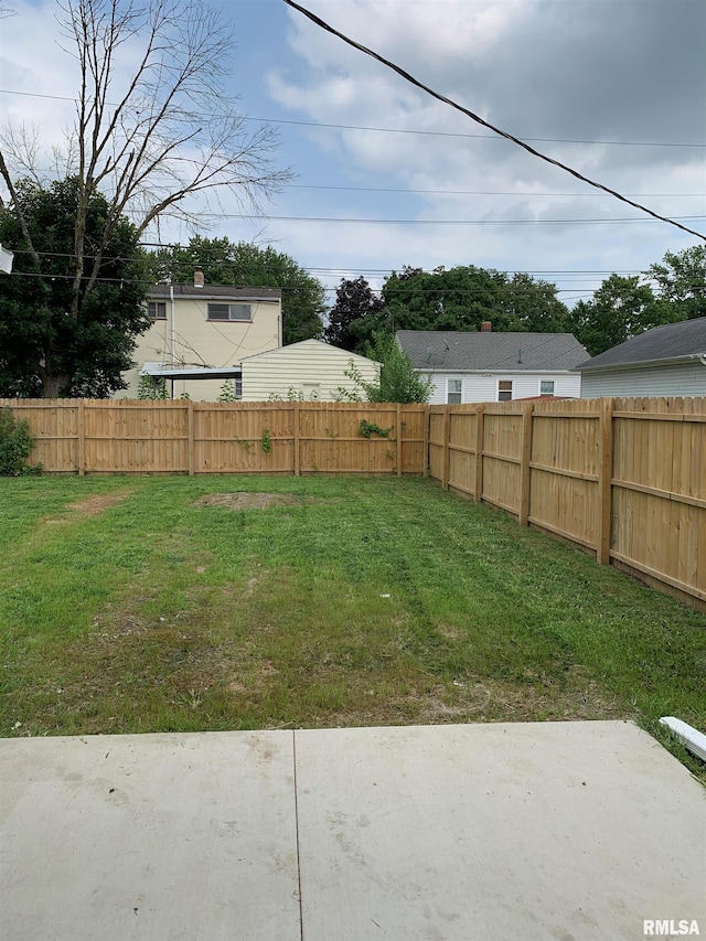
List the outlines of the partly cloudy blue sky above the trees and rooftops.
<svg viewBox="0 0 706 941">
<path fill-rule="evenodd" d="M 2 6 L 2 4 L 0 4 Z M 3 0 L 2 124 L 52 143 L 77 87 L 56 0 Z M 204 235 L 272 245 L 329 289 L 378 289 L 404 265 L 526 271 L 573 306 L 703 239 L 619 202 L 481 127 L 282 0 L 211 3 L 235 24 L 228 94 L 278 130 L 292 182 Z M 703 0 L 302 0 L 334 29 L 543 153 L 706 234 Z M 125 67 L 133 51 L 126 47 Z M 19 94 L 23 93 L 23 94 Z M 43 97 L 43 96 L 60 96 Z M 181 231 L 150 239 L 188 240 Z M 149 239 L 148 239 L 149 240 Z"/>
</svg>

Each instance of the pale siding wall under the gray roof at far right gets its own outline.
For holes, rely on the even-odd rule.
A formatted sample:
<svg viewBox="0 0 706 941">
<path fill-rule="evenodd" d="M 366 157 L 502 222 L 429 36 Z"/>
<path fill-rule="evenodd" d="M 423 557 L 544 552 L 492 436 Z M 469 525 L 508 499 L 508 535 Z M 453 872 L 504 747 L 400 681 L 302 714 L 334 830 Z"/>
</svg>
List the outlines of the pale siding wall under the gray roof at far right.
<svg viewBox="0 0 706 941">
<path fill-rule="evenodd" d="M 600 398 L 603 395 L 703 396 L 706 395 L 706 366 L 695 362 L 584 373 L 581 398 Z"/>
</svg>

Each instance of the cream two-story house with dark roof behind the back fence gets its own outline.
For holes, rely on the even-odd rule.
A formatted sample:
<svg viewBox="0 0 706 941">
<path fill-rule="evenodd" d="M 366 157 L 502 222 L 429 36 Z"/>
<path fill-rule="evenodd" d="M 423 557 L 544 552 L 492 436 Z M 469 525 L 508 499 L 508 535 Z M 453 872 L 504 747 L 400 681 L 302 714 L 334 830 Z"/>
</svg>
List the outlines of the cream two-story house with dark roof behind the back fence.
<svg viewBox="0 0 706 941">
<path fill-rule="evenodd" d="M 136 398 L 141 376 L 167 378 L 173 398 L 215 400 L 225 379 L 237 395 L 242 360 L 282 343 L 279 288 L 205 285 L 200 269 L 193 285 L 152 286 L 148 312 L 120 397 Z"/>
</svg>

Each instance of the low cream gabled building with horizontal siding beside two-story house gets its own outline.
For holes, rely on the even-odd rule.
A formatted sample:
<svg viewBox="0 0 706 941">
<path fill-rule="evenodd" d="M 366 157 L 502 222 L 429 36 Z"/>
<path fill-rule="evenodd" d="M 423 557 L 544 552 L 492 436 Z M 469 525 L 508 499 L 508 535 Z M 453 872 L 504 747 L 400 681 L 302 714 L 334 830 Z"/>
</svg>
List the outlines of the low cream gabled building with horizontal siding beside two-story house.
<svg viewBox="0 0 706 941">
<path fill-rule="evenodd" d="M 334 402 L 339 386 L 355 391 L 353 381 L 344 375 L 351 361 L 365 382 L 376 381 L 377 364 L 372 360 L 318 340 L 249 356 L 243 360 L 243 402 L 267 402 L 272 396 L 287 399 L 300 394 L 318 402 Z"/>
</svg>

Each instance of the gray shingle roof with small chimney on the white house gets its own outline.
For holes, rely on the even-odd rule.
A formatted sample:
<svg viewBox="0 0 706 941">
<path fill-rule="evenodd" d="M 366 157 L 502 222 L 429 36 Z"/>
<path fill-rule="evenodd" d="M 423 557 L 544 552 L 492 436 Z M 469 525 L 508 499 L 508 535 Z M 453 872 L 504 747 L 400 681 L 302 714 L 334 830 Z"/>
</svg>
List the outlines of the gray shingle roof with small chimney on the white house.
<svg viewBox="0 0 706 941">
<path fill-rule="evenodd" d="M 398 330 L 397 340 L 417 370 L 555 372 L 586 360 L 573 333 Z"/>
</svg>

